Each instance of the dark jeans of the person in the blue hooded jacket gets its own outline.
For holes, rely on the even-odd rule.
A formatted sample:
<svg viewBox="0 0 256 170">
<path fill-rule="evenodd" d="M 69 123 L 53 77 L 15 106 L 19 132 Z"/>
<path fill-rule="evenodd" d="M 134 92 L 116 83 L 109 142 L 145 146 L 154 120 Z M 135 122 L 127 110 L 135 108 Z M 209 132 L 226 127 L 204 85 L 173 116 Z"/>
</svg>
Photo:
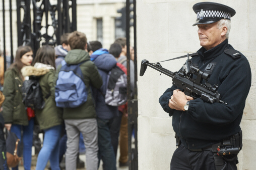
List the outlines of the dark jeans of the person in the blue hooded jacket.
<svg viewBox="0 0 256 170">
<path fill-rule="evenodd" d="M 98 145 L 99 162 L 103 161 L 104 170 L 116 170 L 116 161 L 113 146 L 111 144 L 109 120 L 97 117 L 98 123 Z"/>
</svg>

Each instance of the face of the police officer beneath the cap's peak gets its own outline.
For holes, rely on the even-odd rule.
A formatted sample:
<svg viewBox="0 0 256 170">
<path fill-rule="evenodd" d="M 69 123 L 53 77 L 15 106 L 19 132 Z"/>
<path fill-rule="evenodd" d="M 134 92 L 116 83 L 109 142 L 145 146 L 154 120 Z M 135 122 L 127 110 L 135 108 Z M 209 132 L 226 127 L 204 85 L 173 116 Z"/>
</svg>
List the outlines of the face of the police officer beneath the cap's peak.
<svg viewBox="0 0 256 170">
<path fill-rule="evenodd" d="M 214 48 L 225 40 L 225 35 L 222 36 L 223 28 L 218 29 L 217 26 L 217 22 L 198 25 L 200 45 L 206 50 Z"/>
</svg>

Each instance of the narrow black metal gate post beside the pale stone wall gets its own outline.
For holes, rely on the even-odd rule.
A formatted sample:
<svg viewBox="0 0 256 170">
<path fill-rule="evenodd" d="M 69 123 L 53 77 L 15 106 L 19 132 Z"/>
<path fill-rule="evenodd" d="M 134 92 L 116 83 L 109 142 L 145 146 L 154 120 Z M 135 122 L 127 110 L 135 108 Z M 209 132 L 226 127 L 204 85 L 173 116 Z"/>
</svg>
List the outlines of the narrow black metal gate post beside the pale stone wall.
<svg viewBox="0 0 256 170">
<path fill-rule="evenodd" d="M 133 7 L 131 8 L 131 4 Z M 137 89 L 137 24 L 136 24 L 136 0 L 126 0 L 126 57 L 127 57 L 127 103 L 128 103 L 128 149 L 129 149 L 129 170 L 138 170 L 138 89 Z M 131 14 L 133 12 L 133 14 Z M 131 19 L 133 22 L 131 23 Z M 131 77 L 130 77 L 130 27 L 134 28 L 134 97 L 131 97 Z M 132 141 L 134 131 L 134 144 Z"/>
</svg>

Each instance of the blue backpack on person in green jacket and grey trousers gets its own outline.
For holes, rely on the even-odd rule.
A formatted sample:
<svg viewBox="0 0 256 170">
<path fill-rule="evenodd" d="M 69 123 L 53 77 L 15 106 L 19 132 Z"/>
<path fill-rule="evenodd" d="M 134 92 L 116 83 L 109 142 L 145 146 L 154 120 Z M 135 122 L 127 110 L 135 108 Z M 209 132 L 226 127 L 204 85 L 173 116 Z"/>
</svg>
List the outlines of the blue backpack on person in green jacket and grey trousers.
<svg viewBox="0 0 256 170">
<path fill-rule="evenodd" d="M 65 60 L 61 62 L 55 86 L 57 107 L 75 108 L 87 101 L 87 88 L 79 67 L 84 62 L 74 65 L 67 64 Z"/>
</svg>

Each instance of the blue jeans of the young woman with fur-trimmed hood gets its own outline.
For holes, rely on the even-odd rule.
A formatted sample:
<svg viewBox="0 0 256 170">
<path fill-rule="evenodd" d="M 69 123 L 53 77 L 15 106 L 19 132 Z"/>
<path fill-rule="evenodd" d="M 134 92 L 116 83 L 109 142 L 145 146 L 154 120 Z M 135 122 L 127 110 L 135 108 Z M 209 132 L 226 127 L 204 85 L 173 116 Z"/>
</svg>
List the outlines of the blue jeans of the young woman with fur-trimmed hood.
<svg viewBox="0 0 256 170">
<path fill-rule="evenodd" d="M 52 170 L 59 168 L 59 139 L 61 125 L 56 125 L 44 130 L 43 147 L 41 148 L 36 163 L 36 170 L 44 170 L 48 160 Z"/>
</svg>

